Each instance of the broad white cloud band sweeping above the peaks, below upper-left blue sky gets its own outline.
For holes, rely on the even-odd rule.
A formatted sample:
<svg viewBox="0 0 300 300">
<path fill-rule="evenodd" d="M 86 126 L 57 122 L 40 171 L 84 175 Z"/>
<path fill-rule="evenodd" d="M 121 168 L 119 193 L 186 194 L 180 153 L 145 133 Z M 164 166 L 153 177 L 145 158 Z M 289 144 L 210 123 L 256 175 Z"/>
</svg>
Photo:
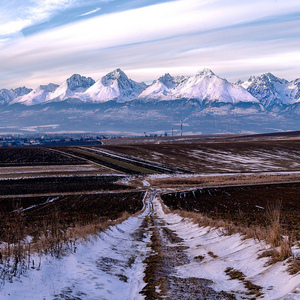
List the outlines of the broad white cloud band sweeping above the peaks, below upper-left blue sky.
<svg viewBox="0 0 300 300">
<path fill-rule="evenodd" d="M 188 75 L 201 67 L 233 79 L 290 67 L 291 76 L 300 69 L 300 21 L 274 19 L 296 12 L 298 0 L 178 0 L 107 14 L 0 44 L 0 77 L 16 85 L 26 74 L 22 82 L 37 84 L 72 72 L 99 77 L 115 67 L 136 80 L 155 79 L 163 69 Z"/>
</svg>

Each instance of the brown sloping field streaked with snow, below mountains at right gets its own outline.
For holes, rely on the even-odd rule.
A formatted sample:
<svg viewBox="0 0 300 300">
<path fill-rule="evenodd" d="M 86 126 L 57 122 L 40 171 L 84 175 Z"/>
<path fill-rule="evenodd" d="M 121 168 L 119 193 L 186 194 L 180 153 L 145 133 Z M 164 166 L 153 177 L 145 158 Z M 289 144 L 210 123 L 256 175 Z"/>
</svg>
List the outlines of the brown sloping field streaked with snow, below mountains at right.
<svg viewBox="0 0 300 300">
<path fill-rule="evenodd" d="M 300 140 L 98 146 L 201 174 L 300 171 Z"/>
</svg>

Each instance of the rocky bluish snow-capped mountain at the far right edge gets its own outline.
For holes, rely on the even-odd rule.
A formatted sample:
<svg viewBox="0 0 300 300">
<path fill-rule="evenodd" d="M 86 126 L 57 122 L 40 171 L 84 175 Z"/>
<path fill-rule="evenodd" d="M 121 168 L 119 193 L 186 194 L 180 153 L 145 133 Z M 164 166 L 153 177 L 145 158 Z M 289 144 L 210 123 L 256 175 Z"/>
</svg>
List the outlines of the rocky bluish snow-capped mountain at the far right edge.
<svg viewBox="0 0 300 300">
<path fill-rule="evenodd" d="M 293 104 L 300 100 L 300 79 L 287 81 L 271 73 L 251 76 L 247 81 L 239 81 L 237 85 L 247 91 L 264 106 L 274 104 Z"/>
</svg>

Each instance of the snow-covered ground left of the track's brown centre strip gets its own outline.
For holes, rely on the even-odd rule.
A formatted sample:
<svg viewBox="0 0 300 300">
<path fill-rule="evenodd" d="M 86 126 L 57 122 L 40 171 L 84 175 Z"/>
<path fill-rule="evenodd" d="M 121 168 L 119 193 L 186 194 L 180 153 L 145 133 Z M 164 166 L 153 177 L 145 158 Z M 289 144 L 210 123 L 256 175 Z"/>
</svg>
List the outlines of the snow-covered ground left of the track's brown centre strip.
<svg viewBox="0 0 300 300">
<path fill-rule="evenodd" d="M 137 240 L 135 233 L 148 213 L 147 208 L 78 244 L 76 253 L 32 258 L 41 267 L 6 282 L 0 299 L 143 299 L 139 291 L 145 285 L 142 261 L 149 237 Z"/>
</svg>

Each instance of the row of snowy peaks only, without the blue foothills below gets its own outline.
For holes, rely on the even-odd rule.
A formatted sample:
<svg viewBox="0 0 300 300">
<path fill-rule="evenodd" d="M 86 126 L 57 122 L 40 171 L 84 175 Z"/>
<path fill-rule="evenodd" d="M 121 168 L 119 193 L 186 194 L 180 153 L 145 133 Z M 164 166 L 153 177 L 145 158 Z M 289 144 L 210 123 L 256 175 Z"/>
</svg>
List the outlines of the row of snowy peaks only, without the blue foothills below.
<svg viewBox="0 0 300 300">
<path fill-rule="evenodd" d="M 197 99 L 222 103 L 251 102 L 263 106 L 294 104 L 300 101 L 300 78 L 287 81 L 271 73 L 251 76 L 247 81 L 233 84 L 204 69 L 191 77 L 165 74 L 151 85 L 135 82 L 120 69 L 95 81 L 74 74 L 61 85 L 50 83 L 36 89 L 26 87 L 0 90 L 1 104 L 35 105 L 77 99 L 82 102 L 119 103 L 135 99 L 168 101 Z"/>
</svg>

